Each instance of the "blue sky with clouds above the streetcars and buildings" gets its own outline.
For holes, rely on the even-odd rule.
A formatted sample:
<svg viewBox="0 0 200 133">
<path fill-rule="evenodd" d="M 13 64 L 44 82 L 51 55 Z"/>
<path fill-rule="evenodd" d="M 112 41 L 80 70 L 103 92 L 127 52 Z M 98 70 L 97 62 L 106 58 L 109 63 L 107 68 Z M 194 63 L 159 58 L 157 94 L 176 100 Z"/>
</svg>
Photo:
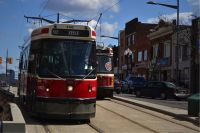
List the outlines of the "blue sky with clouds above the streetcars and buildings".
<svg viewBox="0 0 200 133">
<path fill-rule="evenodd" d="M 138 17 L 145 23 L 156 23 L 158 17 L 165 15 L 171 20 L 176 18 L 176 10 L 162 6 L 148 5 L 148 0 L 0 0 L 0 56 L 5 60 L 6 50 L 13 57 L 13 64 L 8 68 L 17 71 L 20 49 L 30 32 L 39 27 L 38 22 L 29 22 L 27 16 L 47 16 L 56 20 L 60 12 L 61 21 L 73 19 L 93 19 L 90 23 L 95 27 L 99 14 L 102 12 L 97 27 L 97 36 L 118 36 L 125 23 Z M 176 5 L 176 0 L 153 0 L 154 2 Z M 180 23 L 189 24 L 193 15 L 200 15 L 200 0 L 180 0 Z M 45 25 L 45 23 L 43 23 Z M 100 32 L 101 31 L 101 32 Z M 116 40 L 97 38 L 105 44 L 117 45 Z M 0 73 L 5 72 L 5 63 L 0 65 Z"/>
</svg>

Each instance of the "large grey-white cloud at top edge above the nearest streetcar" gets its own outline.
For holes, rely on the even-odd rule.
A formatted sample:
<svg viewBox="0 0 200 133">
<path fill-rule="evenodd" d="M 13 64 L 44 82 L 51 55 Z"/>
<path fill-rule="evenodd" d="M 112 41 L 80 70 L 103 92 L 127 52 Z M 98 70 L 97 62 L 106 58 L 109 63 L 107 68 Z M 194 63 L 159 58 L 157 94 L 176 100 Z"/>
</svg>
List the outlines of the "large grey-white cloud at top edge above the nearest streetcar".
<svg viewBox="0 0 200 133">
<path fill-rule="evenodd" d="M 46 9 L 59 11 L 68 16 L 94 17 L 115 5 L 117 0 L 49 0 Z M 45 3 L 43 3 L 44 5 Z M 113 6 L 110 11 L 118 12 L 119 6 Z"/>
</svg>

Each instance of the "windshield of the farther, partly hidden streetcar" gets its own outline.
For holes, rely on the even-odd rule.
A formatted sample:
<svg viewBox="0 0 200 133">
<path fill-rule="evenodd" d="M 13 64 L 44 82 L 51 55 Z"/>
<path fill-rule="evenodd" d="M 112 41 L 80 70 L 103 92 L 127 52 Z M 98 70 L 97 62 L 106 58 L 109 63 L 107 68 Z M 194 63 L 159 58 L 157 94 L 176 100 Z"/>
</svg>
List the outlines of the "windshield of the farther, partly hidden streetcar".
<svg viewBox="0 0 200 133">
<path fill-rule="evenodd" d="M 97 72 L 112 73 L 112 57 L 108 55 L 97 55 Z"/>
</svg>

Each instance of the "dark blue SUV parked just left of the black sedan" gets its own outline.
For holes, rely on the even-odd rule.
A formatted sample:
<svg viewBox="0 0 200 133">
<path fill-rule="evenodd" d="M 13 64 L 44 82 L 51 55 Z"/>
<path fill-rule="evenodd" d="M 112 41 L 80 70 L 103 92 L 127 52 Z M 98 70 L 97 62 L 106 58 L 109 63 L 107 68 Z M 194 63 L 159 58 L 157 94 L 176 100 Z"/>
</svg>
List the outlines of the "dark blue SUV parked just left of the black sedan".
<svg viewBox="0 0 200 133">
<path fill-rule="evenodd" d="M 125 78 L 124 90 L 128 93 L 133 93 L 135 87 L 143 87 L 145 85 L 144 77 L 128 76 Z"/>
</svg>

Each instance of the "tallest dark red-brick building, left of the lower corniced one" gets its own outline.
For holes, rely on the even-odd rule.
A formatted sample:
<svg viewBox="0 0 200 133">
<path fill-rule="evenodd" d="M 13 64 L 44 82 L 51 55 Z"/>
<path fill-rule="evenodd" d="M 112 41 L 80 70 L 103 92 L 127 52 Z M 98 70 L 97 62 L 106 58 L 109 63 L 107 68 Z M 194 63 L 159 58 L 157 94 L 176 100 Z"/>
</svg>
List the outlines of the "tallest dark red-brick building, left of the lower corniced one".
<svg viewBox="0 0 200 133">
<path fill-rule="evenodd" d="M 150 40 L 147 35 L 157 24 L 147 24 L 134 18 L 125 25 L 125 73 L 148 79 Z"/>
</svg>

